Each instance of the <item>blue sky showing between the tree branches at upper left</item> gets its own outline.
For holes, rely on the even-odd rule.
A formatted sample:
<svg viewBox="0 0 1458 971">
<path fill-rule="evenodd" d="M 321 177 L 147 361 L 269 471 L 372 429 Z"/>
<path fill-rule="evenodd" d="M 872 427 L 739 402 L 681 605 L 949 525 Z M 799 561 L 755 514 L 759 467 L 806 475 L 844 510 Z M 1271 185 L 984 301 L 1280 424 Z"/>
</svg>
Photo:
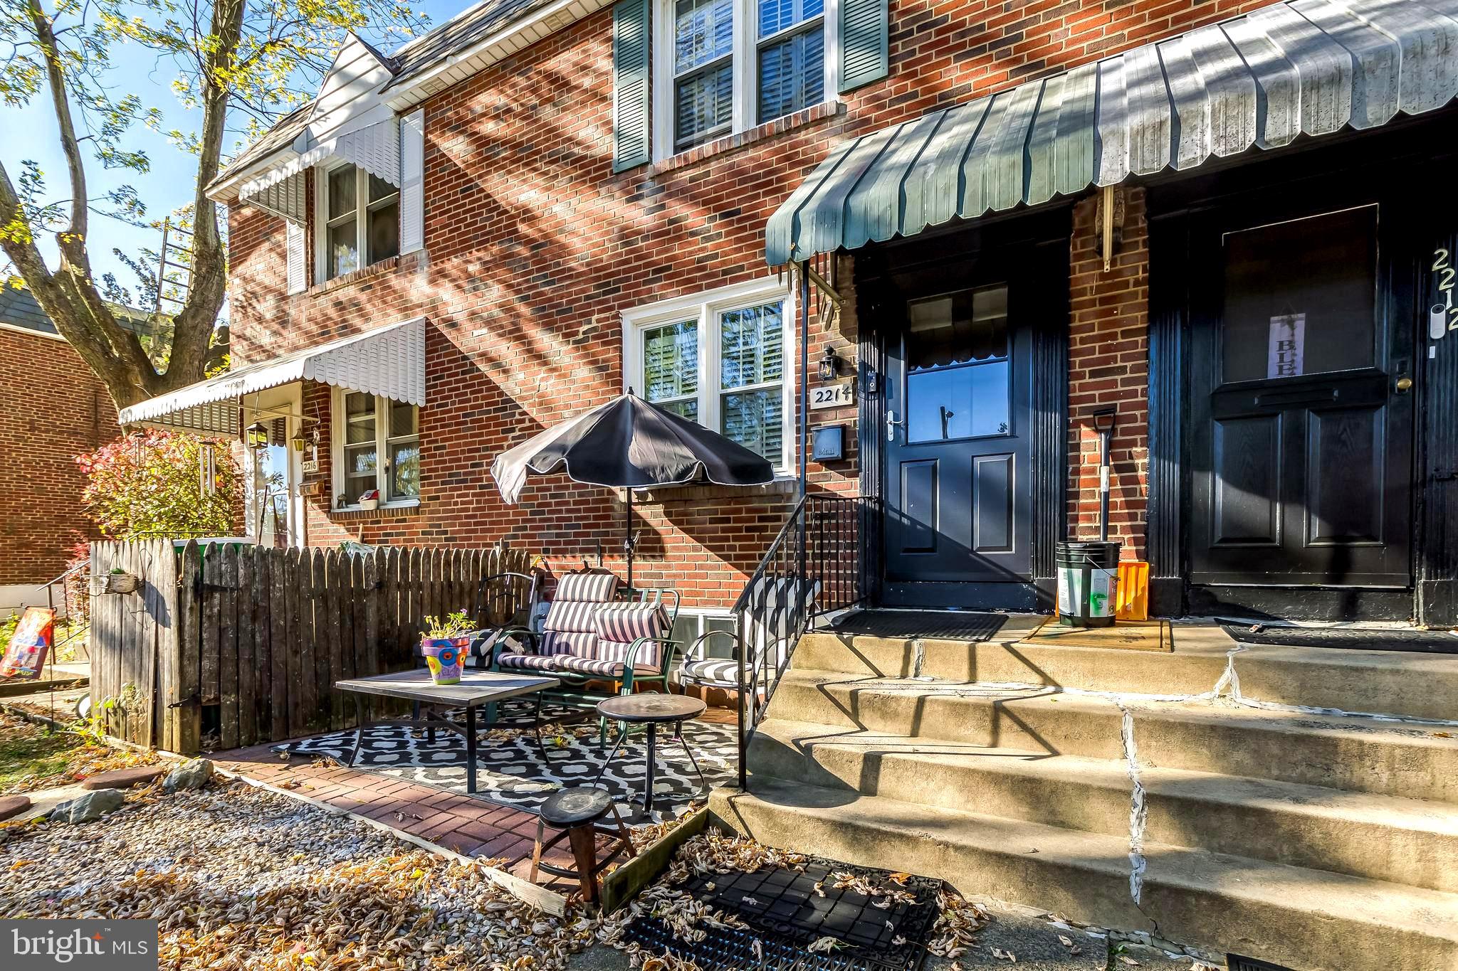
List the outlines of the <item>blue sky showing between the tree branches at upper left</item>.
<svg viewBox="0 0 1458 971">
<path fill-rule="evenodd" d="M 472 3 L 474 0 L 423 0 L 416 6 L 426 10 L 432 26 L 439 26 Z M 172 95 L 174 73 L 169 61 L 157 63 L 152 52 L 136 45 L 117 48 L 112 52 L 112 60 L 117 64 L 114 80 L 122 86 L 122 90 L 136 90 L 141 95 L 143 102 L 162 109 L 163 130 L 194 131 L 197 128 L 201 112 L 184 111 Z M 242 118 L 229 119 L 230 128 L 241 130 L 243 124 Z M 192 201 L 192 182 L 197 172 L 192 156 L 172 147 L 165 137 L 153 134 L 141 125 L 131 130 L 124 147 L 146 151 L 152 160 L 152 169 L 144 175 L 130 169 L 108 172 L 102 169 L 99 162 L 87 159 L 86 178 L 92 198 L 104 197 L 108 189 L 120 185 L 133 185 L 147 205 L 149 218 L 162 218 L 172 210 Z M 230 137 L 225 144 L 225 154 L 230 154 L 238 147 L 236 137 Z M 12 181 L 19 173 L 20 162 L 26 159 L 35 160 L 45 173 L 47 197 L 64 198 L 67 189 L 66 160 L 55 138 L 55 118 L 50 111 L 48 92 L 42 92 L 26 108 L 0 106 L 0 160 L 4 162 Z M 156 249 L 162 242 L 160 234 L 153 229 L 128 226 L 93 211 L 90 237 L 92 268 L 98 280 L 108 271 L 114 272 L 117 281 L 136 294 L 136 275 L 112 256 L 111 250 L 118 247 L 127 253 L 139 253 L 144 246 Z M 50 239 L 42 240 L 42 252 L 47 262 L 54 266 L 55 246 Z"/>
</svg>

